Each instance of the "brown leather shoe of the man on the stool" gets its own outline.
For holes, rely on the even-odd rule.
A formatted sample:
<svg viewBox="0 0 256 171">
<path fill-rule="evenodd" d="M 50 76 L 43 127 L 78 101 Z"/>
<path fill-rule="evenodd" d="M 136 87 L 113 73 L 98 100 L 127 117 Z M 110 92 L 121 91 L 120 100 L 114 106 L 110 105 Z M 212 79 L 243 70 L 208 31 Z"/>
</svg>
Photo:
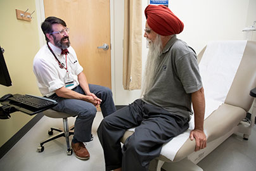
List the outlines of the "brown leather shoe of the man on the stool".
<svg viewBox="0 0 256 171">
<path fill-rule="evenodd" d="M 75 152 L 75 156 L 77 158 L 82 159 L 82 160 L 88 160 L 90 158 L 90 154 L 88 150 L 86 149 L 86 146 L 84 146 L 84 143 L 71 143 L 72 149 Z"/>
</svg>

